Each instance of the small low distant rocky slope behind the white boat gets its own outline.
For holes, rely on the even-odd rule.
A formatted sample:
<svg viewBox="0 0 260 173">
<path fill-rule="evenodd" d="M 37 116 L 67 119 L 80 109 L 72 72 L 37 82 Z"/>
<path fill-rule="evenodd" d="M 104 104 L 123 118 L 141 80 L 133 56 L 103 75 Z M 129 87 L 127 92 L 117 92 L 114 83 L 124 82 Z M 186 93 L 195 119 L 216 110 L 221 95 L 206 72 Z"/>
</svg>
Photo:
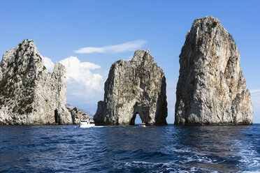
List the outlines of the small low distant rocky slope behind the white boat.
<svg viewBox="0 0 260 173">
<path fill-rule="evenodd" d="M 66 108 L 68 112 L 71 112 L 71 119 L 73 124 L 79 124 L 80 120 L 90 118 L 93 119 L 93 116 L 90 116 L 87 113 L 84 113 L 82 110 L 78 109 L 77 107 L 74 107 L 72 105 L 66 104 Z"/>
</svg>

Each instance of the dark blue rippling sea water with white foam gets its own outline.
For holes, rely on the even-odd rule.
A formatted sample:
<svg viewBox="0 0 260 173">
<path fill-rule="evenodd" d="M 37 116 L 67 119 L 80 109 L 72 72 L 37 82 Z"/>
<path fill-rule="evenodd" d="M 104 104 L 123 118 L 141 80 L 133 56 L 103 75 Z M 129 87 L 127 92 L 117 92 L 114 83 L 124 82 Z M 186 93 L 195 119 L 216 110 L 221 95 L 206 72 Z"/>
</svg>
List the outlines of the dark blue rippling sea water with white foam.
<svg viewBox="0 0 260 173">
<path fill-rule="evenodd" d="M 253 126 L 0 126 L 0 172 L 260 172 Z"/>
</svg>

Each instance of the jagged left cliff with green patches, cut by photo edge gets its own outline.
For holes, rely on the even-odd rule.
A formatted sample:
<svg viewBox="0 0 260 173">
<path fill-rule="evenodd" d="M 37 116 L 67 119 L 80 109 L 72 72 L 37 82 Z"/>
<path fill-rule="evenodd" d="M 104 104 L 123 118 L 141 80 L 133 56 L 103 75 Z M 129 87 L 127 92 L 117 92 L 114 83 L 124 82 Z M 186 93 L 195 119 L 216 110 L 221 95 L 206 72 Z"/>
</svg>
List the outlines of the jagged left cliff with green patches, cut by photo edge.
<svg viewBox="0 0 260 173">
<path fill-rule="evenodd" d="M 66 104 L 65 67 L 43 66 L 34 41 L 23 40 L 0 63 L 0 124 L 72 123 Z"/>
</svg>

